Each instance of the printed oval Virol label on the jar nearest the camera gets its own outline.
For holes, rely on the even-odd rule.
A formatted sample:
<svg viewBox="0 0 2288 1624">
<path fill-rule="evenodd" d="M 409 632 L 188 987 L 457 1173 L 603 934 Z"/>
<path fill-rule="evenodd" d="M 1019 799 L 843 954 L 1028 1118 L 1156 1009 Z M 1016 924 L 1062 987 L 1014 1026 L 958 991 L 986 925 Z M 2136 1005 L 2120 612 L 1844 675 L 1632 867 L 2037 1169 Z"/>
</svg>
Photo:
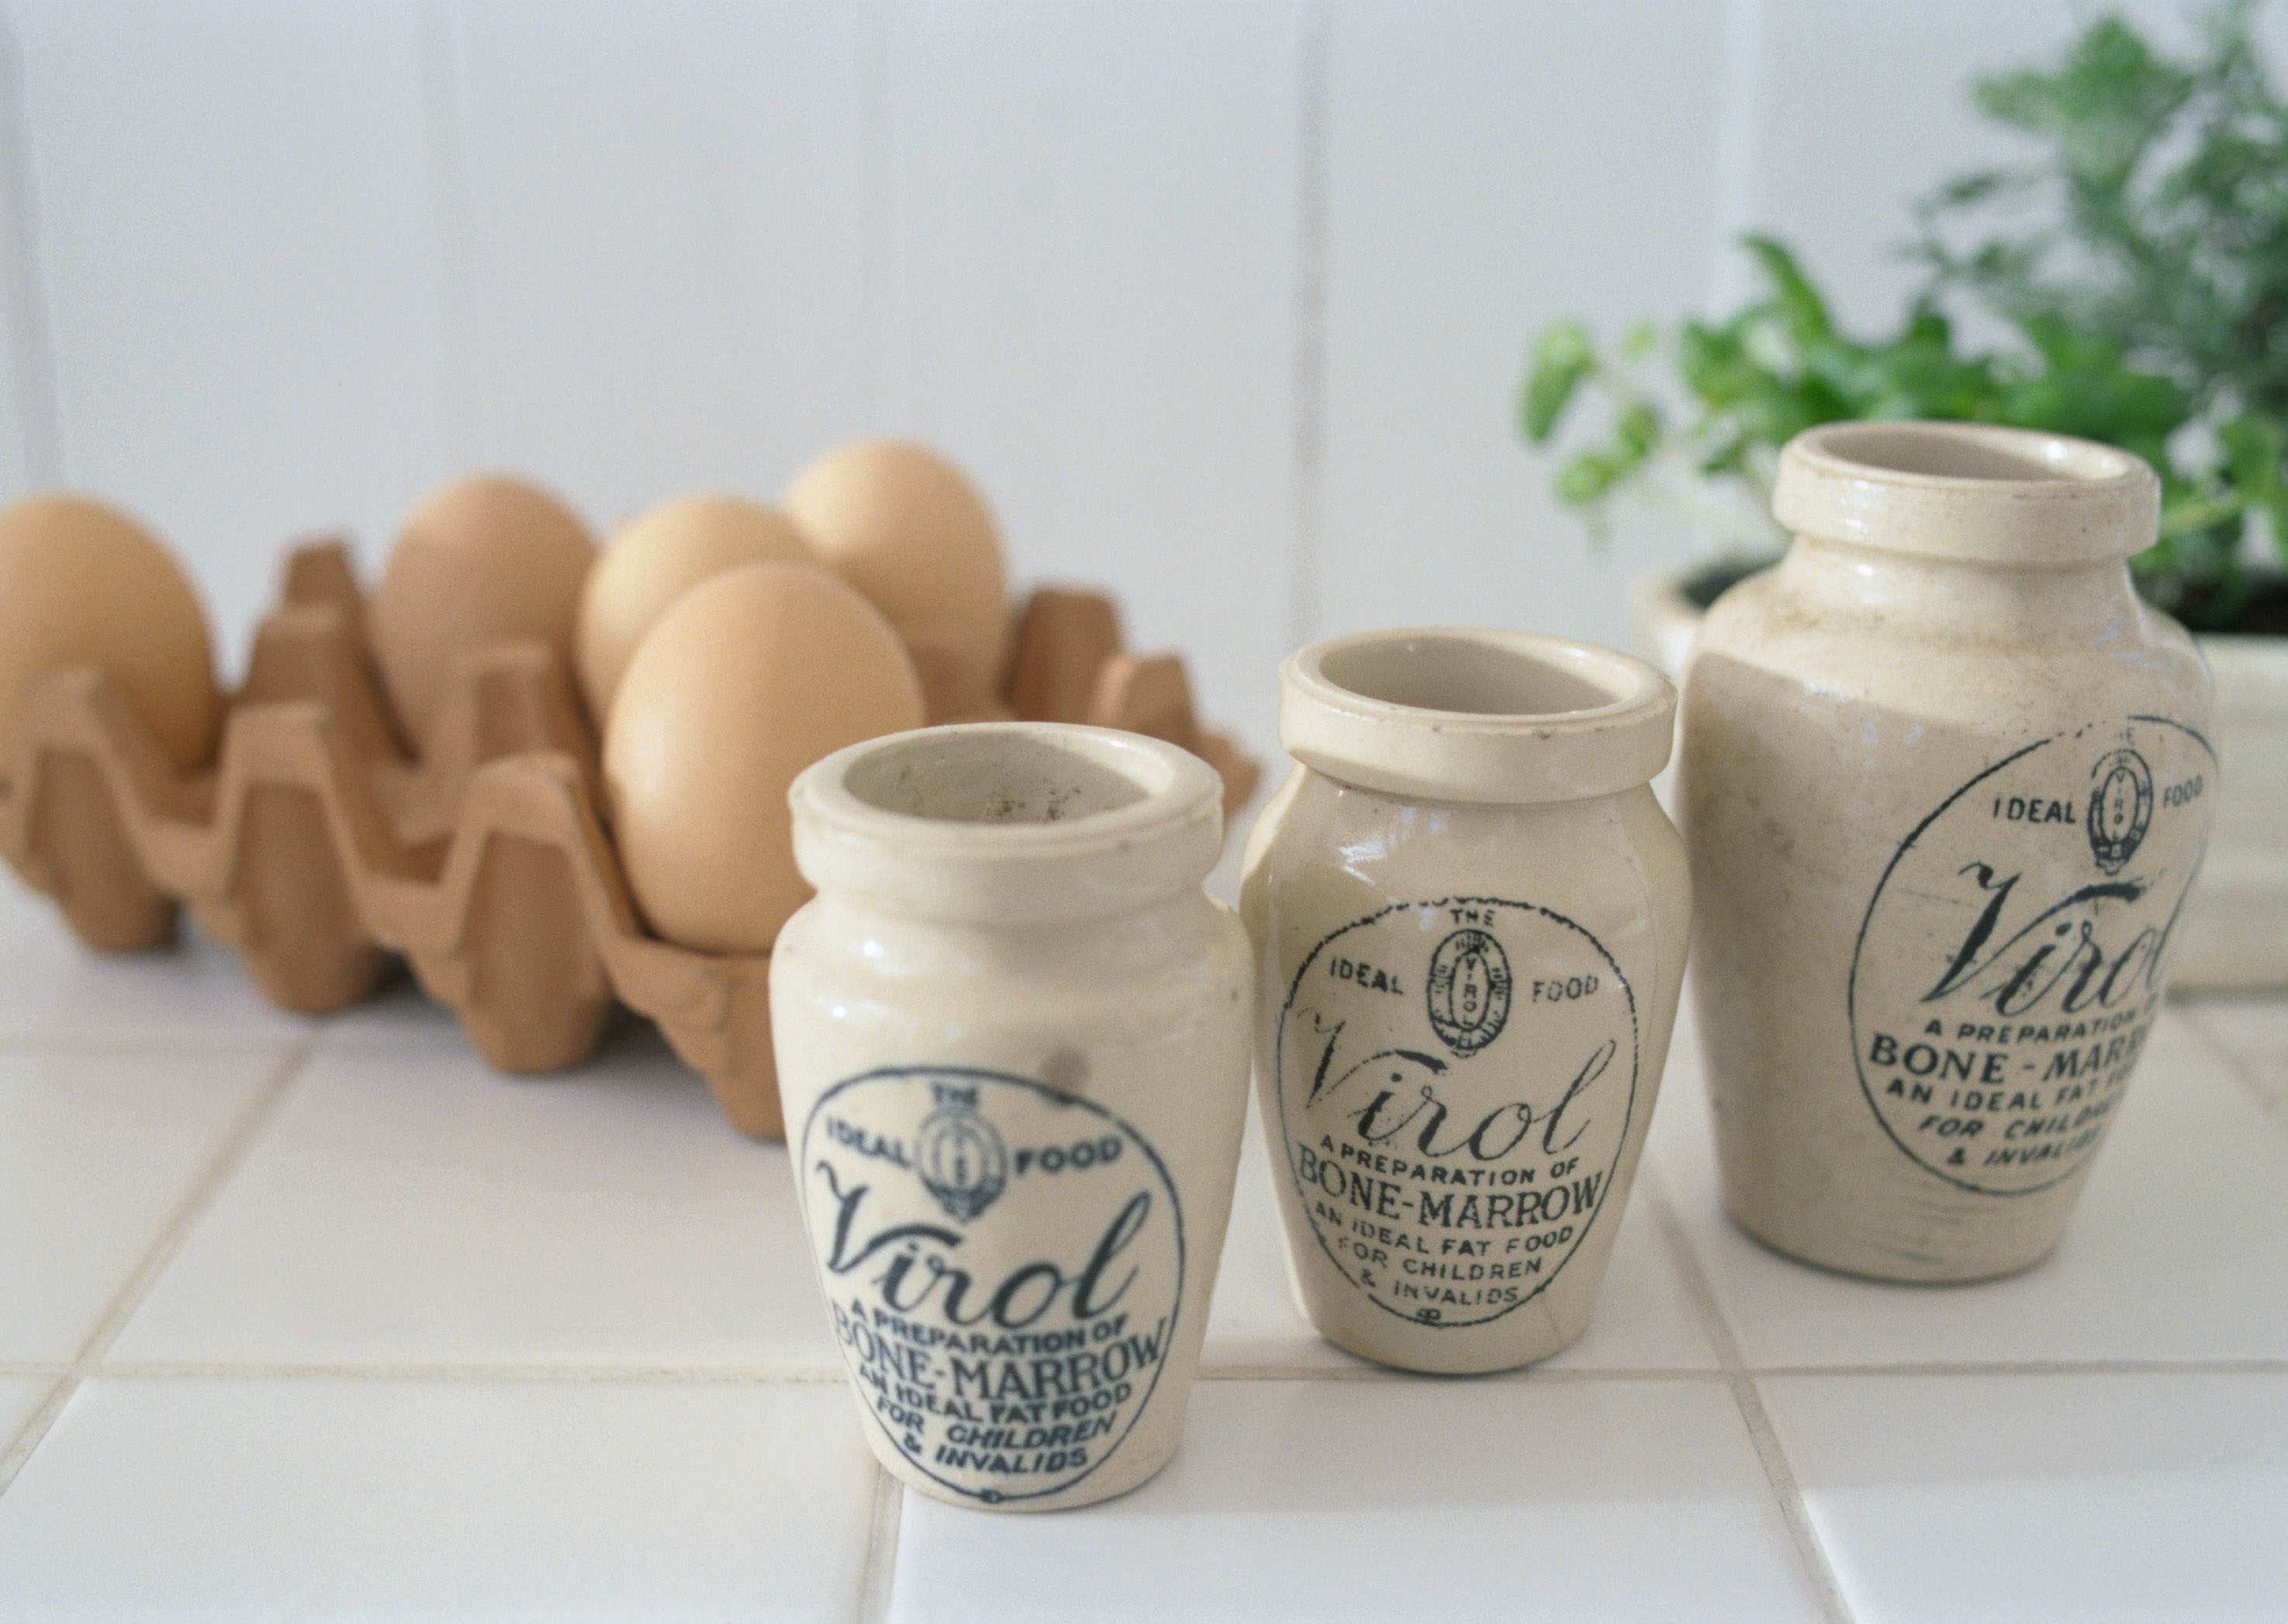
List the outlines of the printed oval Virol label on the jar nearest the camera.
<svg viewBox="0 0 2288 1624">
<path fill-rule="evenodd" d="M 899 1452 L 998 1505 L 1087 1478 L 1151 1402 L 1183 1212 L 1112 1112 L 1027 1077 L 885 1068 L 801 1141 L 835 1340 Z"/>
</svg>

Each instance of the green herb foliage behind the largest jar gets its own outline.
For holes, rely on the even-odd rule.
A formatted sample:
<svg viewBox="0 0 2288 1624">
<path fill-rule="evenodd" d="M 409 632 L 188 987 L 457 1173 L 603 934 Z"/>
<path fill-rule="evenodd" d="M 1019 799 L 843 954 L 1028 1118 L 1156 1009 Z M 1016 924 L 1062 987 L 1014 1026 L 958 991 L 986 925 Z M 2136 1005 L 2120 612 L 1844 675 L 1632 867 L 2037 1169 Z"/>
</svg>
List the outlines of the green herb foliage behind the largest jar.
<svg viewBox="0 0 2288 1624">
<path fill-rule="evenodd" d="M 1558 464 L 1558 494 L 1597 524 L 1622 492 L 1670 489 L 1650 478 L 1666 467 L 1762 499 L 1780 444 L 1837 416 L 2016 423 L 2155 467 L 2162 540 L 2135 560 L 2155 604 L 2212 618 L 2242 602 L 2251 515 L 2288 565 L 2288 101 L 2254 9 L 2224 0 L 2180 59 L 2105 16 L 2043 66 L 1979 78 L 1979 105 L 2032 156 L 1915 201 L 1924 281 L 1888 336 L 1842 332 L 1771 236 L 1741 242 L 1762 286 L 1739 309 L 1622 341 L 1631 364 L 1666 355 L 1686 419 L 1606 371 L 1579 323 L 1544 334 L 1526 437 L 1547 441 L 1590 380 L 1613 403 L 1604 441 Z M 1949 320 L 1965 307 L 2009 339 L 1968 348 Z"/>
</svg>

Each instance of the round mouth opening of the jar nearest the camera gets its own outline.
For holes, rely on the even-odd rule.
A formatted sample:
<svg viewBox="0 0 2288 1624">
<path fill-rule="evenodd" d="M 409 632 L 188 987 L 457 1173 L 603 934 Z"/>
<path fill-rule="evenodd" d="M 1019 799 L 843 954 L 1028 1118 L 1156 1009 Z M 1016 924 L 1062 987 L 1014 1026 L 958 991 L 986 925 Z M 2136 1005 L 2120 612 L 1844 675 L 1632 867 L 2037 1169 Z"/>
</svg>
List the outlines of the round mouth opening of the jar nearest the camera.
<svg viewBox="0 0 2288 1624">
<path fill-rule="evenodd" d="M 931 823 L 1080 823 L 1169 782 L 1153 755 L 1073 734 L 927 727 L 863 750 L 842 789 L 876 812 Z"/>
</svg>

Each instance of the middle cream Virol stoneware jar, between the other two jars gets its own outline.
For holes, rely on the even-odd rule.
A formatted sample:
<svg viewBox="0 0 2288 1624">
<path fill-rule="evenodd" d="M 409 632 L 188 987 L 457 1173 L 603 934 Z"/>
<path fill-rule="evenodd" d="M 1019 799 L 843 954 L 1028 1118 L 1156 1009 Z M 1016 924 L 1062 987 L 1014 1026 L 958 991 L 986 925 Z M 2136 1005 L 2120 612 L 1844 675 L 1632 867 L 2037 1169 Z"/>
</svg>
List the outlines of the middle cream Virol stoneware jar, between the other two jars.
<svg viewBox="0 0 2288 1624">
<path fill-rule="evenodd" d="M 1590 1317 L 1689 938 L 1652 798 L 1675 688 L 1510 631 L 1293 654 L 1295 773 L 1247 842 L 1256 1096 L 1288 1263 L 1332 1343 L 1506 1370 Z"/>
</svg>

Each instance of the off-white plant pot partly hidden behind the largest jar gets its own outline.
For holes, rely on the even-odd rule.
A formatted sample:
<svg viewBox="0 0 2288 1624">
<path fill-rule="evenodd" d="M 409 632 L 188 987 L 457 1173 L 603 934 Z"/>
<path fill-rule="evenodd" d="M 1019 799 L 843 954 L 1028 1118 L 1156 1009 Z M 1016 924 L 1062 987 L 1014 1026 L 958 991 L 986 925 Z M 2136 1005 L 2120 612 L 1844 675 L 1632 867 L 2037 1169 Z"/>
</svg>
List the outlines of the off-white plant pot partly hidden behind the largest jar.
<svg viewBox="0 0 2288 1624">
<path fill-rule="evenodd" d="M 1686 583 L 1702 565 L 1645 576 L 1629 611 L 1647 656 L 1682 675 L 1707 608 Z M 2288 988 L 2288 638 L 2196 634 L 2217 679 L 2212 739 L 2224 764 L 2201 878 L 2176 922 L 2180 993 Z"/>
</svg>

